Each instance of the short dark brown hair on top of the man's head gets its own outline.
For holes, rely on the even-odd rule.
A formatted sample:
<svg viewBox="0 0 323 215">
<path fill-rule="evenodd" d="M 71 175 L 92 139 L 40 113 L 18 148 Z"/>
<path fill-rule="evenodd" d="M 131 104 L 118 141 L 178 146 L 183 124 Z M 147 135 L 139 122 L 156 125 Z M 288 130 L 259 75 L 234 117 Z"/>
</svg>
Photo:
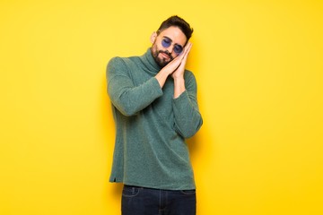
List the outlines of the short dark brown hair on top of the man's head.
<svg viewBox="0 0 323 215">
<path fill-rule="evenodd" d="M 162 22 L 161 26 L 157 30 L 157 34 L 160 34 L 162 30 L 168 29 L 171 26 L 178 27 L 187 37 L 187 39 L 190 39 L 193 33 L 193 28 L 191 28 L 184 19 L 180 18 L 177 15 L 170 16 L 167 20 Z"/>
</svg>

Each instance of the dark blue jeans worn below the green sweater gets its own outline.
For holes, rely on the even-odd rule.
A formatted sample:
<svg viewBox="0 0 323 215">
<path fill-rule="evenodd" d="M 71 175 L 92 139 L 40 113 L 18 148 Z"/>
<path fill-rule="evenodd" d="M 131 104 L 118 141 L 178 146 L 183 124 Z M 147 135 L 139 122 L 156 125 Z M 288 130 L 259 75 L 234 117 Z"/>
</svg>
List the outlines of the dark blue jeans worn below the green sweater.
<svg viewBox="0 0 323 215">
<path fill-rule="evenodd" d="M 121 211 L 122 215 L 196 215 L 196 191 L 124 185 Z"/>
</svg>

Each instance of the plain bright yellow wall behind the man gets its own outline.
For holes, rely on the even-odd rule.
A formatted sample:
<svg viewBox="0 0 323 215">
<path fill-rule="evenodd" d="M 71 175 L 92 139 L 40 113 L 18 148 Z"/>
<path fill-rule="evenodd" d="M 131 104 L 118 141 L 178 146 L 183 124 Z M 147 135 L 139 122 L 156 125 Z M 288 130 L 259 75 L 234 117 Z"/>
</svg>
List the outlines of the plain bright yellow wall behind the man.
<svg viewBox="0 0 323 215">
<path fill-rule="evenodd" d="M 195 29 L 199 215 L 323 214 L 323 3 L 0 2 L 0 214 L 119 214 L 105 68 Z"/>
</svg>

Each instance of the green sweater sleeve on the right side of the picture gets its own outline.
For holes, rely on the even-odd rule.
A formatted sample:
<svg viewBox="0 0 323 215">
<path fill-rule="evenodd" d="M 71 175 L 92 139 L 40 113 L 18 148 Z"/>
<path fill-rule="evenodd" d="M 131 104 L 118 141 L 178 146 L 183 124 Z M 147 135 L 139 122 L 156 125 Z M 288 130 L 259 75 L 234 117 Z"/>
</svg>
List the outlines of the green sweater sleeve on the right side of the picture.
<svg viewBox="0 0 323 215">
<path fill-rule="evenodd" d="M 175 130 L 184 138 L 193 136 L 203 124 L 196 99 L 196 79 L 191 73 L 186 78 L 186 90 L 177 99 L 173 99 L 172 107 L 175 117 Z"/>
</svg>

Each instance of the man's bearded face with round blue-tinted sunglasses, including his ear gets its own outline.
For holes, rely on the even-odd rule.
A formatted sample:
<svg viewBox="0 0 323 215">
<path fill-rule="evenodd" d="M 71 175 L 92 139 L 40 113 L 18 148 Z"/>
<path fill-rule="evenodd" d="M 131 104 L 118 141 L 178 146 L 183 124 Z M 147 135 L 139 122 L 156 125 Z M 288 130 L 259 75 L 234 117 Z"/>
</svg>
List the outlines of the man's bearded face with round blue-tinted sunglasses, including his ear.
<svg viewBox="0 0 323 215">
<path fill-rule="evenodd" d="M 151 40 L 153 58 L 161 67 L 179 56 L 187 42 L 185 34 L 178 27 L 173 26 L 162 30 L 159 35 L 154 32 Z"/>
</svg>

